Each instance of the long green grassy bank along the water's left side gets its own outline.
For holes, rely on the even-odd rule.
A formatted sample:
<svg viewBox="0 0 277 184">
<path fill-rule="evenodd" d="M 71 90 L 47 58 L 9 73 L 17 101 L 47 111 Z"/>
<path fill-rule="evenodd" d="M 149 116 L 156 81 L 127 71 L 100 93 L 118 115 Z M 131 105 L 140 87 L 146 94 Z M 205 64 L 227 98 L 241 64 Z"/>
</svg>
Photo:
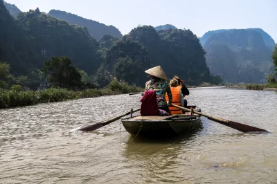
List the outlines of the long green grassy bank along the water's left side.
<svg viewBox="0 0 277 184">
<path fill-rule="evenodd" d="M 19 91 L 0 89 L 0 109 L 19 107 L 46 102 L 61 102 L 79 98 L 94 98 L 102 95 L 117 95 L 143 91 L 138 86 L 130 86 L 125 82 L 113 80 L 103 89 L 86 89 L 71 91 L 66 89 L 46 89 L 42 91 Z"/>
</svg>

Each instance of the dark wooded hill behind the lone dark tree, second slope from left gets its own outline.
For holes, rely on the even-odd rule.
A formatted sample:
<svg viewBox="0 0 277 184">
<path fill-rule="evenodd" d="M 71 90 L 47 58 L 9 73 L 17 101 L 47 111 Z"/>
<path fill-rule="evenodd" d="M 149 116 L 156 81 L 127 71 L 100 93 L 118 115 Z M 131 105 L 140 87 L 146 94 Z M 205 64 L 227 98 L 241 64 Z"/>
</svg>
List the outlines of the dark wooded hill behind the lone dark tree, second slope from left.
<svg viewBox="0 0 277 184">
<path fill-rule="evenodd" d="M 98 42 L 89 35 L 87 28 L 70 26 L 39 9 L 21 13 L 18 19 L 28 30 L 30 42 L 36 46 L 35 53 L 42 55 L 44 60 L 66 55 L 76 67 L 84 68 L 89 74 L 95 73 L 100 66 Z"/>
</svg>

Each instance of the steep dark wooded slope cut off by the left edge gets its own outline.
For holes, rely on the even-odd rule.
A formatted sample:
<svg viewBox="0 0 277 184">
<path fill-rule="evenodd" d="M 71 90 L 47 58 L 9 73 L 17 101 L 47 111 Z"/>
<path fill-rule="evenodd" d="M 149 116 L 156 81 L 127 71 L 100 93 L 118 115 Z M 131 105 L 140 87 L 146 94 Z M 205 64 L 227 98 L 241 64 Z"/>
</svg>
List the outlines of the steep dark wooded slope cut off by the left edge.
<svg viewBox="0 0 277 184">
<path fill-rule="evenodd" d="M 3 1 L 0 1 L 0 27 L 0 61 L 10 64 L 12 73 L 29 73 L 30 68 L 37 66 L 34 47 L 24 26 L 10 16 Z"/>
</svg>

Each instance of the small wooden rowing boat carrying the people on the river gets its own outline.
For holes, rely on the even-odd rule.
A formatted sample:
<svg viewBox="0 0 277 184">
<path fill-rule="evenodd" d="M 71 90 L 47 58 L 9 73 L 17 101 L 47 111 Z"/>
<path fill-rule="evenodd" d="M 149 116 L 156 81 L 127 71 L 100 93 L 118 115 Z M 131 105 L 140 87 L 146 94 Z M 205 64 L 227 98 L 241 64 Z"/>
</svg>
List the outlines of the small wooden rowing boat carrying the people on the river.
<svg viewBox="0 0 277 184">
<path fill-rule="evenodd" d="M 197 106 L 188 106 L 188 109 L 201 112 Z M 121 119 L 129 134 L 168 135 L 184 134 L 202 124 L 200 115 L 190 112 L 170 116 L 132 116 Z"/>
</svg>

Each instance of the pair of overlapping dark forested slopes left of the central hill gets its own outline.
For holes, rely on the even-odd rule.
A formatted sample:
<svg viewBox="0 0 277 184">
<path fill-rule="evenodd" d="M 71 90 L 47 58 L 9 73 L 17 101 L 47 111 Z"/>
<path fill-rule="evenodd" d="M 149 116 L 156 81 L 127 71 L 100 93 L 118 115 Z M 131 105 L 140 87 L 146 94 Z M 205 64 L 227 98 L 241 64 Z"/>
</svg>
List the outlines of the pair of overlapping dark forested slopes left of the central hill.
<svg viewBox="0 0 277 184">
<path fill-rule="evenodd" d="M 87 28 L 70 26 L 43 12 L 30 10 L 13 19 L 0 1 L 0 61 L 10 64 L 11 72 L 23 75 L 41 68 L 51 57 L 66 55 L 88 74 L 96 73 L 103 59 L 99 43 Z M 3 30 L 3 31 L 2 31 Z"/>
</svg>

